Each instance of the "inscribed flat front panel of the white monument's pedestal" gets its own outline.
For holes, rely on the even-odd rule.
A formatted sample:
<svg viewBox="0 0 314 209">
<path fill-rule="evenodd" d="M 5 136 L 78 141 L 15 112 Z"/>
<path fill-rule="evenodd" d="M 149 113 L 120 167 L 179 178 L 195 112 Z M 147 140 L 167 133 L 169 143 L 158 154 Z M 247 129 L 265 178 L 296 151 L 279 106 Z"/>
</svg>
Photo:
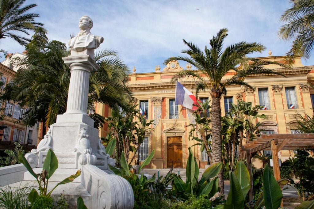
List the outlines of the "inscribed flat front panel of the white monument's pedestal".
<svg viewBox="0 0 314 209">
<path fill-rule="evenodd" d="M 78 135 L 78 126 L 53 126 L 53 149 L 56 152 L 72 151 Z"/>
</svg>

